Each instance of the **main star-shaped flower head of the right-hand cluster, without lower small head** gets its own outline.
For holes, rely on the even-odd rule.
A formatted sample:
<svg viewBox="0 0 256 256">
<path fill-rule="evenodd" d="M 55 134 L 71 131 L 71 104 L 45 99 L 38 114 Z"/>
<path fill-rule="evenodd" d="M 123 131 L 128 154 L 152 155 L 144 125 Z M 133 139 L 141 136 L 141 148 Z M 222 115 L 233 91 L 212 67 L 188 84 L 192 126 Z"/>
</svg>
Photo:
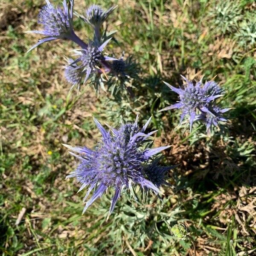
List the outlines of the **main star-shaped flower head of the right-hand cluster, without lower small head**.
<svg viewBox="0 0 256 256">
<path fill-rule="evenodd" d="M 202 87 L 201 81 L 194 85 L 192 81 L 187 80 L 183 76 L 182 78 L 186 81 L 184 90 L 181 88 L 175 88 L 172 85 L 164 82 L 172 91 L 179 94 L 180 100 L 176 104 L 163 108 L 160 111 L 166 111 L 174 108 L 182 109 L 180 123 L 182 122 L 184 116 L 189 115 L 191 131 L 193 122 L 200 116 L 198 112 L 212 114 L 209 110 L 209 103 L 222 95 L 216 94 L 218 90 L 216 84 L 212 84 L 212 82 L 208 82 L 204 85 L 204 87 Z"/>
</svg>

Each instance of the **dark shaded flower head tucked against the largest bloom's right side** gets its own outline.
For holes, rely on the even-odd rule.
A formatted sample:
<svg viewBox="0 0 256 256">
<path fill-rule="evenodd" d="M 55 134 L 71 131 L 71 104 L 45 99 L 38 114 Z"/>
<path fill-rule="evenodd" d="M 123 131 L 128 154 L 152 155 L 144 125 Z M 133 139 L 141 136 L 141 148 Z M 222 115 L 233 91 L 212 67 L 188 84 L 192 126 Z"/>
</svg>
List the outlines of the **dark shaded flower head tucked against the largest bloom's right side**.
<svg viewBox="0 0 256 256">
<path fill-rule="evenodd" d="M 162 185 L 172 186 L 166 182 L 168 171 L 173 169 L 175 166 L 158 166 L 159 158 L 152 161 L 148 166 L 145 167 L 144 172 L 155 186 L 158 188 Z"/>
</svg>

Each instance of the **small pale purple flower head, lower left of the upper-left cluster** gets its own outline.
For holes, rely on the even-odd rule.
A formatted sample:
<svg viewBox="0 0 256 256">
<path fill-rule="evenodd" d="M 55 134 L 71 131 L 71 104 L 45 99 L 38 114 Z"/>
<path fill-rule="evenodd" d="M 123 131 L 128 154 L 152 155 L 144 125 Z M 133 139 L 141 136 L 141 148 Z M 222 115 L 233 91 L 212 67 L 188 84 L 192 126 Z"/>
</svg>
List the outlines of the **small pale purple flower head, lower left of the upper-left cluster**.
<svg viewBox="0 0 256 256">
<path fill-rule="evenodd" d="M 68 60 L 68 65 L 65 67 L 64 76 L 67 81 L 72 84 L 71 89 L 75 85 L 80 85 L 83 73 L 81 72 L 81 67 L 79 67 L 73 59 Z M 70 90 L 71 90 L 70 89 Z"/>
</svg>

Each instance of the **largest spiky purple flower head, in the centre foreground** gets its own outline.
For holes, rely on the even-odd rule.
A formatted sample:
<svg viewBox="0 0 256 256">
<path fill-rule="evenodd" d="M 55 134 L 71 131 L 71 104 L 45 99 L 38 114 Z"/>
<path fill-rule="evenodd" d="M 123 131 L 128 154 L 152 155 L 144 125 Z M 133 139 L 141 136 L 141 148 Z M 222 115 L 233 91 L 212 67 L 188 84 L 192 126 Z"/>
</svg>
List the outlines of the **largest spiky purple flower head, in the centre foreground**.
<svg viewBox="0 0 256 256">
<path fill-rule="evenodd" d="M 87 201 L 83 213 L 97 198 L 102 196 L 108 187 L 115 189 L 109 214 L 113 211 L 124 187 L 132 184 L 140 185 L 142 188 L 152 189 L 158 194 L 160 190 L 157 186 L 145 178 L 143 166 L 148 163 L 153 155 L 169 148 L 169 146 L 151 149 L 147 146 L 148 144 L 143 143 L 155 132 L 145 134 L 150 119 L 142 129 L 138 127 L 137 117 L 134 124 L 125 124 L 119 129 L 111 128 L 108 125 L 111 130 L 108 132 L 96 119 L 94 119 L 94 122 L 102 134 L 102 141 L 98 143 L 95 150 L 65 145 L 72 151 L 78 152 L 79 155 L 70 153 L 80 160 L 76 171 L 68 175 L 67 178 L 76 177 L 81 183 L 79 191 L 85 187 L 88 188 L 84 201 L 90 192 L 95 189 L 95 192 Z"/>
</svg>

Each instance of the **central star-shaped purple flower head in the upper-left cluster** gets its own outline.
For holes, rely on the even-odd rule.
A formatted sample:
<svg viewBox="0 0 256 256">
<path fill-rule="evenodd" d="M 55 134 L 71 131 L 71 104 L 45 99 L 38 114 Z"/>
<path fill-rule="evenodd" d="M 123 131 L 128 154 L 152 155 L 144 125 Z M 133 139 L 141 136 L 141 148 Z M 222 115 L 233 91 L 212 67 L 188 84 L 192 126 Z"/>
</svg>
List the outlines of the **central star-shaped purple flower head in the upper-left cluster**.
<svg viewBox="0 0 256 256">
<path fill-rule="evenodd" d="M 104 56 L 102 54 L 103 49 L 110 40 L 111 38 L 105 41 L 100 47 L 95 46 L 93 42 L 91 42 L 86 49 L 79 51 L 79 55 L 81 55 L 81 57 L 78 58 L 78 61 L 82 62 L 80 67 L 83 68 L 82 72 L 86 73 L 84 82 L 87 81 L 90 74 L 96 69 L 99 69 L 101 65 L 105 66 L 106 61 L 116 60 L 116 58 Z"/>
</svg>

